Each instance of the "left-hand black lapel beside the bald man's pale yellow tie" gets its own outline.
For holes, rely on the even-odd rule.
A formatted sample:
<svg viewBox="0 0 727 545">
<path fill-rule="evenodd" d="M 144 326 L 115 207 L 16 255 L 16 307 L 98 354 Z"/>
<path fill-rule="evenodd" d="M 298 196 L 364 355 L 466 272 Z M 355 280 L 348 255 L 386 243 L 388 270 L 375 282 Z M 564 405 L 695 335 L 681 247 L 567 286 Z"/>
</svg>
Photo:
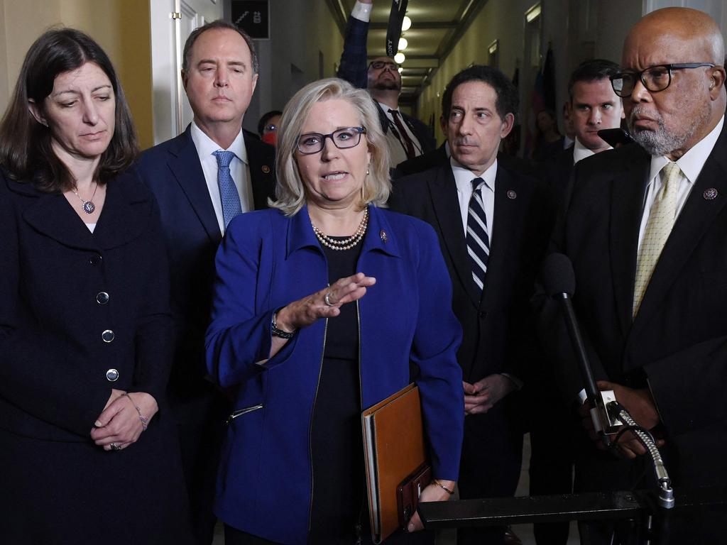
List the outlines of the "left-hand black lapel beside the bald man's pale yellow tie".
<svg viewBox="0 0 727 545">
<path fill-rule="evenodd" d="M 640 148 L 639 148 L 640 151 Z M 627 172 L 611 180 L 611 278 L 622 334 L 631 328 L 638 233 L 643 214 L 643 194 L 650 160 L 646 153 L 627 160 Z"/>
</svg>

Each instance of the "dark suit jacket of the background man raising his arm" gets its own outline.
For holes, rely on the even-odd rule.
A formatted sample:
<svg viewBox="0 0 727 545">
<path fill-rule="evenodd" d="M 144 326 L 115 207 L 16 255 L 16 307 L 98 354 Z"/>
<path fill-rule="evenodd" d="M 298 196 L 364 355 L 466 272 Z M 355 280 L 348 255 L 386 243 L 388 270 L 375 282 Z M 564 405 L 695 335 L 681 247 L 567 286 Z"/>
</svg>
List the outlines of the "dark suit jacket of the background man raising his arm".
<svg viewBox="0 0 727 545">
<path fill-rule="evenodd" d="M 351 85 L 359 89 L 366 89 L 368 86 L 368 57 L 366 56 L 366 36 L 369 34 L 369 23 L 356 19 L 356 17 L 348 17 L 348 25 L 346 25 L 346 34 L 343 41 L 343 52 L 341 53 L 341 62 L 338 68 L 337 76 L 345 79 Z M 390 130 L 396 131 L 395 126 L 389 121 L 385 111 L 374 100 L 374 105 L 379 112 L 379 122 L 383 131 L 386 133 Z M 401 112 L 401 118 L 409 126 L 411 132 L 419 140 L 422 145 L 422 153 L 431 151 L 437 146 L 436 140 L 432 134 L 432 130 L 419 121 L 419 119 L 407 116 Z"/>
</svg>

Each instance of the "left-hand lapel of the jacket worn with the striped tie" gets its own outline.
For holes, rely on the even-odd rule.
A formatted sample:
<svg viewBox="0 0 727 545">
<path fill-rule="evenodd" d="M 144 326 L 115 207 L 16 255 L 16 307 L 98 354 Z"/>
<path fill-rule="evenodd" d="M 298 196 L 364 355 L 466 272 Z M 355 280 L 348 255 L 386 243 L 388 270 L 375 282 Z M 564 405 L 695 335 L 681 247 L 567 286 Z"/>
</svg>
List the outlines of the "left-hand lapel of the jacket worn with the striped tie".
<svg viewBox="0 0 727 545">
<path fill-rule="evenodd" d="M 480 294 L 472 279 L 465 232 L 462 230 L 462 213 L 457 199 L 457 185 L 449 163 L 442 164 L 435 170 L 435 177 L 429 180 L 428 185 L 444 246 L 457 272 L 459 282 L 470 294 L 473 304 L 477 306 Z"/>
</svg>

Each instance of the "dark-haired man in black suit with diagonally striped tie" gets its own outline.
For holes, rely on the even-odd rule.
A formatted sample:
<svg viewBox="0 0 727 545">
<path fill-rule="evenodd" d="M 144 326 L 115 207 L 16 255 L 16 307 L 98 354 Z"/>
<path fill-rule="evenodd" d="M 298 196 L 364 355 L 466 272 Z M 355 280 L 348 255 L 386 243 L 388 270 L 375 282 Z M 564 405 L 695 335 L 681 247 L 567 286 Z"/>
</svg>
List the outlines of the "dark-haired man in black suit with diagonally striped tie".
<svg viewBox="0 0 727 545">
<path fill-rule="evenodd" d="M 462 498 L 513 496 L 521 469 L 523 429 L 508 394 L 520 387 L 531 346 L 529 297 L 550 235 L 550 210 L 543 185 L 497 161 L 517 110 L 517 89 L 499 70 L 462 70 L 442 98 L 451 160 L 398 179 L 390 200 L 393 210 L 435 228 L 454 288 L 452 306 L 464 331 Z M 460 545 L 502 544 L 504 528 L 457 534 Z"/>
</svg>

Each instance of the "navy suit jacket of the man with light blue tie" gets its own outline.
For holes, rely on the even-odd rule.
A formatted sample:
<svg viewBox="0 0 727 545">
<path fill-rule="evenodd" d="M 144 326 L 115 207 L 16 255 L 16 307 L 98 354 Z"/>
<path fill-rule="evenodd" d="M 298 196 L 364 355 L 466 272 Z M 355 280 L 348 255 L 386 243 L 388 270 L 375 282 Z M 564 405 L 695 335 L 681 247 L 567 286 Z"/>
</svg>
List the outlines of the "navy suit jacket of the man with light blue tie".
<svg viewBox="0 0 727 545">
<path fill-rule="evenodd" d="M 275 148 L 244 132 L 255 209 L 268 207 L 275 188 Z M 208 383 L 204 332 L 209 324 L 214 254 L 222 239 L 190 127 L 142 153 L 137 171 L 161 209 L 172 270 L 172 312 L 177 346 L 172 399 L 196 395 Z"/>
</svg>

